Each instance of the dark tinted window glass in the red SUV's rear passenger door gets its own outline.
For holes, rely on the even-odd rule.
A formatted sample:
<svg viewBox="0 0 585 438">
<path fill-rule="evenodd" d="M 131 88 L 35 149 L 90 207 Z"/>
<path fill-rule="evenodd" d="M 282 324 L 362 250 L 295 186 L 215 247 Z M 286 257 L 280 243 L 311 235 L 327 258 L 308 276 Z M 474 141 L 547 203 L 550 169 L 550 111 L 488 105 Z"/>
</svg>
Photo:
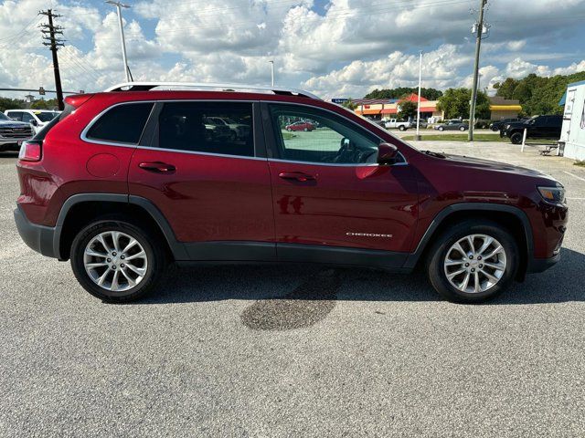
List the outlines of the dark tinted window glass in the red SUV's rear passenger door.
<svg viewBox="0 0 585 438">
<path fill-rule="evenodd" d="M 154 144 L 174 151 L 253 157 L 252 122 L 249 102 L 167 102 Z"/>
</svg>

